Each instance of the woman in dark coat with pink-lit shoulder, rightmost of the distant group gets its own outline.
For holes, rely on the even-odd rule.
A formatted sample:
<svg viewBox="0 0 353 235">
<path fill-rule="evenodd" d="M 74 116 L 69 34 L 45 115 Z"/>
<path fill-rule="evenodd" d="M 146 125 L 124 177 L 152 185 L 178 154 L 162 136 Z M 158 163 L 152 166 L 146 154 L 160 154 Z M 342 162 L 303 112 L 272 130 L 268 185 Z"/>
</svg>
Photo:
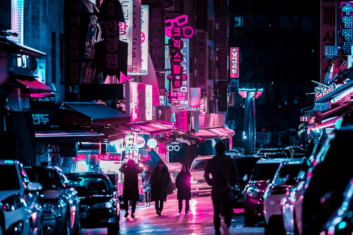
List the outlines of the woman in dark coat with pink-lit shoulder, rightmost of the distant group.
<svg viewBox="0 0 353 235">
<path fill-rule="evenodd" d="M 175 179 L 175 187 L 178 188 L 177 199 L 179 200 L 179 214 L 183 208 L 183 200 L 185 200 L 185 214 L 189 211 L 189 200 L 191 199 L 191 174 L 186 164 L 181 166 L 181 172 L 179 172 Z"/>
</svg>

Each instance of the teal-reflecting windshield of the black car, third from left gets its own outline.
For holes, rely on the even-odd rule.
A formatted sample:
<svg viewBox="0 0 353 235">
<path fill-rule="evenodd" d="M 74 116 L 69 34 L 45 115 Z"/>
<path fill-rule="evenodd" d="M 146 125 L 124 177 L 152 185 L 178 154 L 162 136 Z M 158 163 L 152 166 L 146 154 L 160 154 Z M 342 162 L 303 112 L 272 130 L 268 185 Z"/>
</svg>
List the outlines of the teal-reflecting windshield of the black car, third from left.
<svg viewBox="0 0 353 235">
<path fill-rule="evenodd" d="M 66 175 L 67 179 L 76 181 L 78 194 L 108 193 L 109 182 L 101 175 Z M 110 185 L 113 186 L 113 185 Z"/>
</svg>

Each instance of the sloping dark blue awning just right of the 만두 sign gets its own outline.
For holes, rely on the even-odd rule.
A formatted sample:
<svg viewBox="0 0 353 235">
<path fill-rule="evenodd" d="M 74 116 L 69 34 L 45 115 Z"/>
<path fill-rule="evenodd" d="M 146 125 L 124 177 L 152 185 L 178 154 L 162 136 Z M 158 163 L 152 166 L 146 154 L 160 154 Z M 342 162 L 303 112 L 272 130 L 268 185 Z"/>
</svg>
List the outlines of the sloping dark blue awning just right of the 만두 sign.
<svg viewBox="0 0 353 235">
<path fill-rule="evenodd" d="M 126 124 L 130 122 L 130 116 L 112 109 L 103 104 L 83 102 L 62 102 L 60 109 L 77 111 L 90 118 L 89 125 L 105 126 L 113 124 Z"/>
</svg>

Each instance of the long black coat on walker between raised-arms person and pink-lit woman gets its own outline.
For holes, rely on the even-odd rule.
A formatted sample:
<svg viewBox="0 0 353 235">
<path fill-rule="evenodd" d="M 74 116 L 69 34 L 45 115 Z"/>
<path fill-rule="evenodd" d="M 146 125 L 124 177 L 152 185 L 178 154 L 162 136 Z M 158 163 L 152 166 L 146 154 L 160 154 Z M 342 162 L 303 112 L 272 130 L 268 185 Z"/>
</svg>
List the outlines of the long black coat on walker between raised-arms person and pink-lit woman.
<svg viewBox="0 0 353 235">
<path fill-rule="evenodd" d="M 159 177 L 160 176 L 160 177 Z M 151 202 L 167 200 L 167 186 L 170 181 L 170 175 L 166 167 L 162 169 L 157 166 L 153 169 L 151 176 Z"/>
</svg>

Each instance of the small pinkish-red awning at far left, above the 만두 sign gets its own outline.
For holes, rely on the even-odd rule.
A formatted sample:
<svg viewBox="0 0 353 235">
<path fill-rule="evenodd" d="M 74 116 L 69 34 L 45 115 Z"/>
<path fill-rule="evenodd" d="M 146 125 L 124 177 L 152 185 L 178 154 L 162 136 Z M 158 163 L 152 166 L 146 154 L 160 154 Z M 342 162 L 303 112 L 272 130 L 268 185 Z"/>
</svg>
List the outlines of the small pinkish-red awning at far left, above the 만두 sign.
<svg viewBox="0 0 353 235">
<path fill-rule="evenodd" d="M 10 81 L 11 85 L 28 89 L 31 97 L 46 97 L 53 96 L 53 91 L 49 86 L 45 85 L 43 82 L 38 81 L 33 77 L 28 77 L 26 79 L 12 79 Z"/>
</svg>

